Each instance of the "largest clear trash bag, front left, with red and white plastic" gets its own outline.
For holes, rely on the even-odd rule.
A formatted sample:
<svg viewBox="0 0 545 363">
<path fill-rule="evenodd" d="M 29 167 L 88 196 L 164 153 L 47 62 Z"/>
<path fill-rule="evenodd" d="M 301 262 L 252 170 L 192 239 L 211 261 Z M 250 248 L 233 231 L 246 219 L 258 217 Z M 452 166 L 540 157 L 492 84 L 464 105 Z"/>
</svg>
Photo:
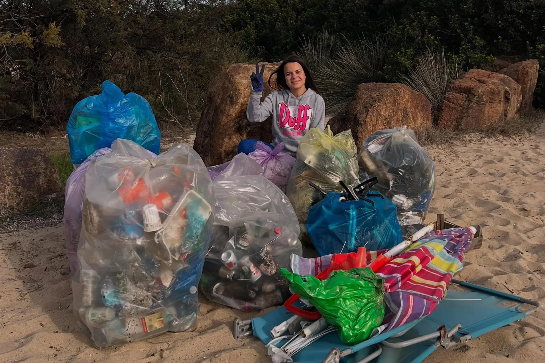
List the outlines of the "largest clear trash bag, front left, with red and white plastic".
<svg viewBox="0 0 545 363">
<path fill-rule="evenodd" d="M 96 347 L 196 326 L 212 181 L 177 144 L 154 158 L 118 139 L 85 173 L 74 312 Z"/>
</svg>

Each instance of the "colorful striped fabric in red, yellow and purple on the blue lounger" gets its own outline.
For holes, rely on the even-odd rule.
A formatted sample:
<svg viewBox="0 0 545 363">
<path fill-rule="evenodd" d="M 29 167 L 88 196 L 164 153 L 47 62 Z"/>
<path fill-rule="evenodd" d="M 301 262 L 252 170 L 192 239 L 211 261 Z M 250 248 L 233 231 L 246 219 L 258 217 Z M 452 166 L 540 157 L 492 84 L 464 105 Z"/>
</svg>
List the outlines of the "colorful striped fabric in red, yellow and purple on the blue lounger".
<svg viewBox="0 0 545 363">
<path fill-rule="evenodd" d="M 429 315 L 445 296 L 452 276 L 463 268 L 464 252 L 473 232 L 468 228 L 433 231 L 413 243 L 377 275 L 385 281 L 386 330 Z M 367 253 L 367 264 L 383 251 Z M 332 255 L 304 259 L 292 255 L 292 270 L 316 276 L 328 268 Z"/>
</svg>

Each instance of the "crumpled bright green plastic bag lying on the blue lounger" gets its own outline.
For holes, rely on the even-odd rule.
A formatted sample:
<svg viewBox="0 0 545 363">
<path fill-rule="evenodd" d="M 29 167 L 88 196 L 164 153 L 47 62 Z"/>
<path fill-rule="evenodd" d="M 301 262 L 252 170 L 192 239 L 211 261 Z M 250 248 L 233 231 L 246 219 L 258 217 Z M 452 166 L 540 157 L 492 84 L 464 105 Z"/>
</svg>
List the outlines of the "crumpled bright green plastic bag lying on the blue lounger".
<svg viewBox="0 0 545 363">
<path fill-rule="evenodd" d="M 384 280 L 368 268 L 335 270 L 328 279 L 301 276 L 280 269 L 289 287 L 307 299 L 322 316 L 336 325 L 346 344 L 357 344 L 369 338 L 384 319 Z"/>
</svg>

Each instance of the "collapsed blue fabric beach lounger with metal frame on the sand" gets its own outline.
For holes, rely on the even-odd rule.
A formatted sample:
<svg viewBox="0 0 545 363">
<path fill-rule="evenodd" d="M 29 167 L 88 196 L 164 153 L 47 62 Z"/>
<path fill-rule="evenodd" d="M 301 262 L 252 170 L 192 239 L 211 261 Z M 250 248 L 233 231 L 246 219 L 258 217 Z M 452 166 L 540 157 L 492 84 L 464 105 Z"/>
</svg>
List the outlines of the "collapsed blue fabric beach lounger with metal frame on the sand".
<svg viewBox="0 0 545 363">
<path fill-rule="evenodd" d="M 528 307 L 529 306 L 529 307 Z M 421 362 L 439 347 L 452 348 L 534 313 L 539 303 L 468 282 L 451 280 L 446 297 L 424 318 L 348 346 L 332 331 L 293 355 L 305 363 Z M 526 307 L 526 309 L 525 309 Z M 233 337 L 256 336 L 268 344 L 270 331 L 290 318 L 283 306 L 267 315 L 234 319 Z M 277 344 L 282 346 L 282 342 Z"/>
</svg>

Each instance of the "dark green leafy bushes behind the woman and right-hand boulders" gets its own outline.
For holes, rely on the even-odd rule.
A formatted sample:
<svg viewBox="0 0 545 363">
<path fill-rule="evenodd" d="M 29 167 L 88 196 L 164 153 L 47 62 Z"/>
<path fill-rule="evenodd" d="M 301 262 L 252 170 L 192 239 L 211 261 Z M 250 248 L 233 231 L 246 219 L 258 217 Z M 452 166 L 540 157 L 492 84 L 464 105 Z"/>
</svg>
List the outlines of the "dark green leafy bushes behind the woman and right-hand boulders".
<svg viewBox="0 0 545 363">
<path fill-rule="evenodd" d="M 304 53 L 323 28 L 354 46 L 387 33 L 381 76 L 388 82 L 408 75 L 428 49 L 444 49 L 464 69 L 486 69 L 498 56 L 536 58 L 542 66 L 534 106 L 545 107 L 543 19 L 543 2 L 535 0 L 240 0 L 224 27 L 267 60 Z"/>
</svg>

